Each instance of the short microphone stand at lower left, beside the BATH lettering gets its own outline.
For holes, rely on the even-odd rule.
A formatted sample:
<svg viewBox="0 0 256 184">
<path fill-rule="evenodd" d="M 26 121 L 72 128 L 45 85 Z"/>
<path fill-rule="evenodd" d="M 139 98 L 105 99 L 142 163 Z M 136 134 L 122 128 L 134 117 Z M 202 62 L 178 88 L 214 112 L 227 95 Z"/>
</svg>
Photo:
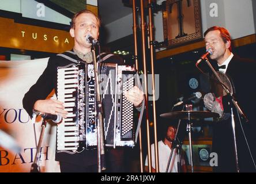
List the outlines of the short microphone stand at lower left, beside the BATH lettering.
<svg viewBox="0 0 256 184">
<path fill-rule="evenodd" d="M 46 119 L 45 118 L 43 118 L 41 127 L 42 127 L 42 129 L 40 132 L 40 137 L 39 137 L 39 141 L 38 141 L 37 148 L 36 148 L 36 156 L 35 156 L 34 162 L 31 165 L 31 170 L 30 170 L 31 173 L 40 173 L 40 167 L 38 166 L 37 163 L 40 160 L 40 156 L 39 156 L 40 148 L 41 148 L 41 144 L 43 141 L 44 129 L 46 128 Z"/>
</svg>

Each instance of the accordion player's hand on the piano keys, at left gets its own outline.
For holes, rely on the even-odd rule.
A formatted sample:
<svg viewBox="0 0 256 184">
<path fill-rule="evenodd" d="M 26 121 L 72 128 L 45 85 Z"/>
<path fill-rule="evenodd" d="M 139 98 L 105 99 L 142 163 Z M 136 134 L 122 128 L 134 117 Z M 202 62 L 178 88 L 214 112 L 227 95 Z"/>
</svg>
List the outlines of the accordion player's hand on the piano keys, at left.
<svg viewBox="0 0 256 184">
<path fill-rule="evenodd" d="M 33 109 L 50 114 L 59 114 L 63 118 L 67 117 L 68 112 L 63 106 L 63 102 L 57 101 L 56 99 L 39 99 L 35 102 Z"/>
</svg>

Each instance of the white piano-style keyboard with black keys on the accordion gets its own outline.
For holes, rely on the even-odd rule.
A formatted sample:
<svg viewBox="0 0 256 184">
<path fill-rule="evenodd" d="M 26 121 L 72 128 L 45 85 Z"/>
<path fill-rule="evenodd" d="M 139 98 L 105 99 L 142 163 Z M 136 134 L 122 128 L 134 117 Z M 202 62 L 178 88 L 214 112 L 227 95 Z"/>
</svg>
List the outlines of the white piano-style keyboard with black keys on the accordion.
<svg viewBox="0 0 256 184">
<path fill-rule="evenodd" d="M 78 68 L 58 69 L 58 101 L 64 102 L 67 118 L 57 125 L 57 150 L 77 150 L 79 132 L 76 110 Z"/>
</svg>

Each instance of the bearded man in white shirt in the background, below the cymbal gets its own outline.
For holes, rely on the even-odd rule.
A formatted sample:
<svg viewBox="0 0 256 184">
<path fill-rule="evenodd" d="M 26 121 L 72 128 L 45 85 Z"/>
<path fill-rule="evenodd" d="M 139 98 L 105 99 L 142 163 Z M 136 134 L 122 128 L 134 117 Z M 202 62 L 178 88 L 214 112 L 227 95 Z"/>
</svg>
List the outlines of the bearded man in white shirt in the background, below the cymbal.
<svg viewBox="0 0 256 184">
<path fill-rule="evenodd" d="M 159 150 L 159 172 L 165 173 L 168 160 L 170 158 L 171 150 L 172 150 L 172 142 L 175 139 L 176 127 L 174 125 L 168 125 L 164 130 L 164 137 L 162 140 L 158 142 L 158 150 Z M 174 149 L 172 154 L 172 159 L 170 166 L 168 168 L 168 173 L 178 173 L 178 151 L 177 148 Z M 180 151 L 180 164 L 181 164 L 181 172 L 186 173 L 186 162 L 184 159 L 185 152 Z M 152 155 L 152 173 L 156 173 L 155 170 L 155 144 L 151 144 L 151 155 Z M 145 161 L 145 171 L 148 172 L 148 155 L 146 156 Z"/>
</svg>

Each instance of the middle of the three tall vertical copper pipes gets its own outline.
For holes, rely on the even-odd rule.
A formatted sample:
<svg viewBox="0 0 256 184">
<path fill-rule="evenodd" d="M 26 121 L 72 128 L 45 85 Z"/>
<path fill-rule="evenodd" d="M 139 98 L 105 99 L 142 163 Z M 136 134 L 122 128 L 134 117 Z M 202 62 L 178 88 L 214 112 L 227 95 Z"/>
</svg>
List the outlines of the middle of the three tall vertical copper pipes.
<svg viewBox="0 0 256 184">
<path fill-rule="evenodd" d="M 150 137 L 149 137 L 149 118 L 148 118 L 148 82 L 146 75 L 148 70 L 146 69 L 146 40 L 145 40 L 145 18 L 144 18 L 144 0 L 141 1 L 141 41 L 142 41 L 142 62 L 143 62 L 143 71 L 144 71 L 144 93 L 145 93 L 145 106 L 146 106 L 146 137 L 148 143 L 148 167 L 149 173 L 152 172 L 151 169 L 151 149 L 150 149 Z"/>
</svg>

